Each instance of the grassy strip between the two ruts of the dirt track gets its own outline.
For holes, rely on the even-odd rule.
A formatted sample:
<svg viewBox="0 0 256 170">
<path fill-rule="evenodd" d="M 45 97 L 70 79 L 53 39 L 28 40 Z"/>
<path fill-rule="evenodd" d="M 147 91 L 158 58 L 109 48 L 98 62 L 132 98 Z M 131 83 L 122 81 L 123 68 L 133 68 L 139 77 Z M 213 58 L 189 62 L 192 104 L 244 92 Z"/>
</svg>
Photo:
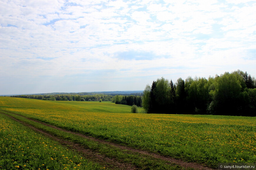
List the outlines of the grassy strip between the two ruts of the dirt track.
<svg viewBox="0 0 256 170">
<path fill-rule="evenodd" d="M 8 113 L 9 115 L 26 122 L 38 129 L 44 130 L 46 132 L 49 132 L 50 134 L 61 137 L 65 140 L 82 144 L 84 147 L 93 150 L 94 152 L 98 152 L 99 154 L 106 155 L 109 158 L 115 158 L 119 162 L 124 162 L 124 163 L 129 163 L 132 164 L 133 166 L 137 167 L 138 169 L 183 169 L 182 167 L 175 165 L 175 164 L 166 164 L 165 161 L 162 161 L 160 159 L 155 159 L 153 157 L 147 156 L 147 155 L 141 155 L 136 152 L 130 152 L 128 150 L 122 150 L 116 147 L 112 147 L 107 144 L 102 144 L 99 142 L 94 142 L 92 140 L 83 138 L 78 135 L 70 134 L 68 132 L 56 130 L 52 127 L 48 127 L 45 125 L 42 125 L 40 123 L 36 123 L 31 120 L 27 120 L 26 118 L 22 118 L 17 115 L 13 115 Z"/>
</svg>

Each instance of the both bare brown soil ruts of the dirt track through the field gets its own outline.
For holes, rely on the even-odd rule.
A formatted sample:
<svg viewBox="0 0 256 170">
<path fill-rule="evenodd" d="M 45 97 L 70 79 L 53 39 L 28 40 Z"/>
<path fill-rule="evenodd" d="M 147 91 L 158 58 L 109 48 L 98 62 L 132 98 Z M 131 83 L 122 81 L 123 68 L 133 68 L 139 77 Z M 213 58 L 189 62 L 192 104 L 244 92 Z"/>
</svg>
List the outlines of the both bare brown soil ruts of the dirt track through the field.
<svg viewBox="0 0 256 170">
<path fill-rule="evenodd" d="M 11 114 L 15 114 L 15 113 L 11 113 Z M 7 114 L 5 114 L 7 115 Z M 16 115 L 19 115 L 19 114 L 16 114 Z M 7 115 L 8 117 L 30 127 L 31 129 L 35 130 L 35 131 L 38 131 L 58 142 L 60 142 L 61 144 L 64 144 L 68 147 L 71 147 L 72 149 L 75 149 L 79 152 L 82 152 L 85 157 L 89 160 L 92 160 L 92 161 L 96 161 L 96 162 L 99 162 L 100 164 L 104 164 L 105 167 L 107 168 L 111 168 L 111 169 L 137 169 L 137 167 L 134 167 L 132 164 L 127 164 L 127 163 L 122 163 L 122 162 L 119 162 L 117 161 L 116 159 L 110 159 L 100 153 L 97 153 L 97 152 L 93 152 L 92 150 L 90 149 L 86 149 L 84 148 L 82 145 L 80 144 L 76 144 L 74 142 L 70 142 L 70 141 L 67 141 L 67 140 L 63 140 L 59 137 L 55 137 L 55 136 L 52 136 L 51 134 L 49 134 L 48 132 L 45 132 L 43 130 L 40 130 L 40 129 L 37 129 L 27 123 L 24 123 L 10 115 Z M 84 138 L 87 138 L 89 140 L 92 140 L 92 141 L 95 141 L 95 142 L 100 142 L 100 143 L 103 143 L 103 144 L 108 144 L 110 146 L 113 146 L 113 147 L 117 147 L 117 148 L 120 148 L 122 150 L 128 150 L 128 151 L 131 151 L 131 152 L 137 152 L 139 154 L 144 154 L 144 155 L 148 155 L 148 156 L 151 156 L 151 157 L 154 157 L 154 158 L 157 158 L 157 159 L 162 159 L 164 161 L 167 161 L 169 163 L 172 163 L 172 164 L 177 164 L 179 166 L 182 166 L 183 168 L 193 168 L 193 169 L 200 169 L 200 170 L 212 170 L 211 168 L 207 167 L 207 166 L 203 166 L 203 165 L 200 165 L 200 164 L 197 164 L 195 162 L 185 162 L 185 161 L 182 161 L 180 159 L 174 159 L 172 157 L 167 157 L 167 156 L 162 156 L 162 155 L 159 155 L 159 154 L 156 154 L 156 153 L 151 153 L 151 152 L 147 152 L 147 151 L 144 151 L 144 150 L 140 150 L 140 149 L 134 149 L 134 148 L 131 148 L 131 147 L 127 147 L 127 146 L 122 146 L 122 145 L 119 145 L 119 144 L 116 144 L 116 143 L 113 143 L 113 142 L 109 142 L 109 141 L 104 141 L 104 140 L 100 140 L 100 139 L 97 139 L 95 137 L 91 137 L 91 136 L 87 136 L 87 135 L 83 135 L 83 134 L 80 134 L 80 133 L 77 133 L 77 132 L 72 132 L 72 131 L 69 131 L 69 130 L 65 130 L 65 129 L 62 129 L 62 128 L 59 128 L 59 127 L 56 127 L 56 126 L 53 126 L 53 125 L 49 125 L 49 124 L 46 124 L 46 123 L 43 123 L 43 122 L 40 122 L 38 120 L 34 120 L 34 119 L 31 119 L 31 118 L 27 118 L 25 116 L 22 116 L 22 115 L 19 115 L 21 117 L 24 117 L 26 119 L 29 119 L 31 121 L 34 121 L 36 123 L 41 123 L 43 125 L 46 125 L 46 126 L 49 126 L 49 127 L 52 127 L 52 128 L 55 128 L 57 130 L 61 130 L 61 131 L 64 131 L 64 132 L 68 132 L 68 133 L 71 133 L 71 134 L 75 134 L 75 135 L 78 135 L 80 137 L 84 137 Z"/>
</svg>

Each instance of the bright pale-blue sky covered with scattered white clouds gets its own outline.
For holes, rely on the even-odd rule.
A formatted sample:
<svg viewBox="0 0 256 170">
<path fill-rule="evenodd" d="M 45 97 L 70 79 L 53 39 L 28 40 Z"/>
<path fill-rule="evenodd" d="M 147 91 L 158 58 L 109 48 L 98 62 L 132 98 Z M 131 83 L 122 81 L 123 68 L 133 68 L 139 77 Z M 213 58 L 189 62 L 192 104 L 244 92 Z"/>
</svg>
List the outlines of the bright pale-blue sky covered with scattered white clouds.
<svg viewBox="0 0 256 170">
<path fill-rule="evenodd" d="M 250 0 L 0 0 L 0 94 L 256 76 L 255 11 Z"/>
</svg>

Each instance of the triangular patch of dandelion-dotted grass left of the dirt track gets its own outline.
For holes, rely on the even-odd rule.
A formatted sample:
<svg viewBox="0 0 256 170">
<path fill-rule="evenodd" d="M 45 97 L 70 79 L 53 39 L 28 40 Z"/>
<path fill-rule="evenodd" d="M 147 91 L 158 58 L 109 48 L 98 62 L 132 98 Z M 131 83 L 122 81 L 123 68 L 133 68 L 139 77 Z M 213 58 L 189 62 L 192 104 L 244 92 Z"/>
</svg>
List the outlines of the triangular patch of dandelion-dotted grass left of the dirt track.
<svg viewBox="0 0 256 170">
<path fill-rule="evenodd" d="M 84 159 L 80 154 L 2 114 L 0 114 L 0 141 L 0 169 L 102 168 L 99 164 Z"/>
</svg>

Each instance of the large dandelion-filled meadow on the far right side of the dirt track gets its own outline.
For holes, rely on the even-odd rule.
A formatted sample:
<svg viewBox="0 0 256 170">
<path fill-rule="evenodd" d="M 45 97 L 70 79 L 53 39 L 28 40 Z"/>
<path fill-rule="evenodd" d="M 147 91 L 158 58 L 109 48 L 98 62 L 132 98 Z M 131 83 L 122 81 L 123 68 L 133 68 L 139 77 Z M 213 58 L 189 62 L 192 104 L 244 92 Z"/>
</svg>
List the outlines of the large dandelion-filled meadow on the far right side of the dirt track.
<svg viewBox="0 0 256 170">
<path fill-rule="evenodd" d="M 0 110 L 211 168 L 256 162 L 255 117 L 130 113 L 130 106 L 109 102 L 9 97 L 0 97 Z"/>
</svg>

